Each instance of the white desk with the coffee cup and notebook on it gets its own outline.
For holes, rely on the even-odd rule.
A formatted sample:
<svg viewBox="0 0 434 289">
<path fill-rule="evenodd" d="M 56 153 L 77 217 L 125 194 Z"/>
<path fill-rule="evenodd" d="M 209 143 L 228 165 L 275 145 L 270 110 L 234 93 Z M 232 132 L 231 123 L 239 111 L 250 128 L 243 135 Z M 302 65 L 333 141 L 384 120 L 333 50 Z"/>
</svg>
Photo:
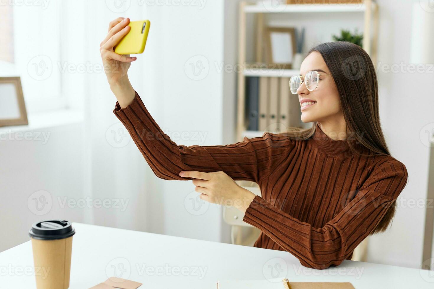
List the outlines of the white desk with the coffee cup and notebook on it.
<svg viewBox="0 0 434 289">
<path fill-rule="evenodd" d="M 114 267 L 122 269 L 118 274 L 124 272 L 118 277 L 143 283 L 139 289 L 216 289 L 218 279 L 271 277 L 294 282 L 351 282 L 356 289 L 434 288 L 432 271 L 430 276 L 426 270 L 350 260 L 314 270 L 301 266 L 284 251 L 79 223 L 73 227 L 71 289 L 86 289 L 105 281 L 107 274 L 114 276 Z M 32 266 L 30 241 L 1 252 L 0 288 L 36 288 L 33 273 L 29 273 Z M 270 266 L 279 270 L 274 270 L 276 275 L 270 275 Z"/>
</svg>

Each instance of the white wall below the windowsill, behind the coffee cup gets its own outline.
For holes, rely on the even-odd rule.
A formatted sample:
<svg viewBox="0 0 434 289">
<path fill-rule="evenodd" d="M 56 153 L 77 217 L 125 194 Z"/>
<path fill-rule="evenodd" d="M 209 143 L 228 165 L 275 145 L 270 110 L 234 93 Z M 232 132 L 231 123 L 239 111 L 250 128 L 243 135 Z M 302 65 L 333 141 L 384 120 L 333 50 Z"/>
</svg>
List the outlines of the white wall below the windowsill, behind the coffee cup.
<svg viewBox="0 0 434 289">
<path fill-rule="evenodd" d="M 41 218 L 86 221 L 87 208 L 64 206 L 65 200 L 85 198 L 82 135 L 80 123 L 0 130 L 0 231 L 7 232 L 0 251 L 28 241 L 31 225 Z"/>
</svg>

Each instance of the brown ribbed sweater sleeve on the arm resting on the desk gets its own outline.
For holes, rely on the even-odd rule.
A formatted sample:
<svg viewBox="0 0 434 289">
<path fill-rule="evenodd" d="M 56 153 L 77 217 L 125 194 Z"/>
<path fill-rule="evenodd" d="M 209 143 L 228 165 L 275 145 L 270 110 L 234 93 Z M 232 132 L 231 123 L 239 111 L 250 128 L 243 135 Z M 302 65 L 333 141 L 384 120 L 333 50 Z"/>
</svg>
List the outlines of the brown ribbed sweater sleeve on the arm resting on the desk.
<svg viewBox="0 0 434 289">
<path fill-rule="evenodd" d="M 407 184 L 407 169 L 392 159 L 383 162 L 355 192 L 352 200 L 322 228 L 299 221 L 256 196 L 243 221 L 259 228 L 305 267 L 339 265 L 381 221 Z"/>
</svg>

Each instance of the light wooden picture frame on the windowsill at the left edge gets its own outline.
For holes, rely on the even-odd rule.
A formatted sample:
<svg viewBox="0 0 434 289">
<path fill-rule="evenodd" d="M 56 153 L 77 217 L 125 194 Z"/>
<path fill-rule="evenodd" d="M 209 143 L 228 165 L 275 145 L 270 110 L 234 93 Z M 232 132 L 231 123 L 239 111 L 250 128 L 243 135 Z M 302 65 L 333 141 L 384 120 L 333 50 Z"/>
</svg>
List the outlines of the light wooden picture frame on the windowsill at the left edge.
<svg viewBox="0 0 434 289">
<path fill-rule="evenodd" d="M 0 127 L 29 124 L 20 77 L 0 77 Z"/>
</svg>

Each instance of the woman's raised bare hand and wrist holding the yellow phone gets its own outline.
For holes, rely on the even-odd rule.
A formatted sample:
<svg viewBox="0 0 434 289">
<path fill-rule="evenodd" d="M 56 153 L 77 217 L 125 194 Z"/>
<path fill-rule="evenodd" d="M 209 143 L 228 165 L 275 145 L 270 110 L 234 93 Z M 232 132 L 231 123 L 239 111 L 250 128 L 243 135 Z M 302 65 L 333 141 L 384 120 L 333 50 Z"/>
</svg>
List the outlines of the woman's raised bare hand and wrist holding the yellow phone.
<svg viewBox="0 0 434 289">
<path fill-rule="evenodd" d="M 101 42 L 99 51 L 101 52 L 102 64 L 105 75 L 110 84 L 110 89 L 118 99 L 119 105 L 127 107 L 135 97 L 135 90 L 128 79 L 128 68 L 136 57 L 130 55 L 120 55 L 115 53 L 114 47 L 130 31 L 129 18 L 119 17 L 109 23 L 109 32 Z"/>
</svg>

